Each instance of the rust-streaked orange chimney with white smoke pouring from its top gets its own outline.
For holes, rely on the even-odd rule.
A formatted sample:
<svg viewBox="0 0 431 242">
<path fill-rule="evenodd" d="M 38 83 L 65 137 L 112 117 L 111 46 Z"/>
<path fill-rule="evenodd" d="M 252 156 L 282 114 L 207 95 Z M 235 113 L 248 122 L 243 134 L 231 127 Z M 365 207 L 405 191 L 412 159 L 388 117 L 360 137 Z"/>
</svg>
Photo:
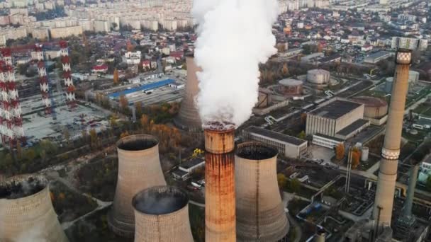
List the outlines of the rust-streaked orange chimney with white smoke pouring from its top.
<svg viewBox="0 0 431 242">
<path fill-rule="evenodd" d="M 235 241 L 235 129 L 205 129 L 205 241 Z"/>
</svg>

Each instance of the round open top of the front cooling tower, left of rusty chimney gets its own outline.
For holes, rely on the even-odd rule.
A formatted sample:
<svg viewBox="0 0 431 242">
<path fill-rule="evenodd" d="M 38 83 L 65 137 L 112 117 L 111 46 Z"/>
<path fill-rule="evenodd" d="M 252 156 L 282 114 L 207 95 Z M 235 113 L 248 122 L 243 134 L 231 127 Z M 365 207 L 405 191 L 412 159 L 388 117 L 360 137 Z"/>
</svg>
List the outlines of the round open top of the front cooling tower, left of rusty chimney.
<svg viewBox="0 0 431 242">
<path fill-rule="evenodd" d="M 175 207 L 164 207 L 163 204 L 160 203 L 155 203 L 155 207 L 138 207 L 138 202 L 140 200 L 144 200 L 143 202 L 145 202 L 145 196 L 148 196 L 147 199 L 150 197 L 155 198 L 154 195 L 156 194 L 164 195 L 164 197 L 168 197 L 169 199 L 175 200 Z M 174 195 L 180 195 L 181 197 L 174 197 Z M 170 185 L 157 185 L 151 188 L 147 188 L 145 190 L 141 190 L 140 192 L 136 193 L 136 195 L 133 196 L 132 199 L 133 209 L 135 209 L 136 212 L 139 212 L 140 214 L 143 214 L 145 216 L 163 216 L 175 214 L 187 207 L 188 205 L 189 195 L 187 195 L 187 193 L 184 192 L 184 190 L 182 190 L 181 188 L 177 188 Z M 155 212 L 155 209 L 159 209 L 159 212 Z"/>
</svg>

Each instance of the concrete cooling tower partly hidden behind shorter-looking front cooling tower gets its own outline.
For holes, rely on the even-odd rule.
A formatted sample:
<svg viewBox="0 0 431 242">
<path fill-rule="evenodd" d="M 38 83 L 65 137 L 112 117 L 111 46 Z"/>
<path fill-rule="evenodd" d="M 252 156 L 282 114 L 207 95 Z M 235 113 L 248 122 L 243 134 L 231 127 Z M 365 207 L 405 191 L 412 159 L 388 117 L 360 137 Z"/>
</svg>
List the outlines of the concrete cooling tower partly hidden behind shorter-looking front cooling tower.
<svg viewBox="0 0 431 242">
<path fill-rule="evenodd" d="M 118 180 L 108 224 L 114 233 L 131 238 L 135 234 L 133 196 L 166 182 L 159 161 L 159 141 L 155 137 L 125 137 L 117 142 L 117 152 Z"/>
</svg>

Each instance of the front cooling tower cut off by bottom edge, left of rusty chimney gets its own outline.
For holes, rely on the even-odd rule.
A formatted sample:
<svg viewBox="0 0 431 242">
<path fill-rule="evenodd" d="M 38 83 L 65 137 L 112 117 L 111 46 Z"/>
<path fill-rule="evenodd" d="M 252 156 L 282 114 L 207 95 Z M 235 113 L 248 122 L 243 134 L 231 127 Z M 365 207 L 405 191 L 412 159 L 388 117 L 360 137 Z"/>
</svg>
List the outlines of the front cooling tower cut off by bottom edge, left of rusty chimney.
<svg viewBox="0 0 431 242">
<path fill-rule="evenodd" d="M 133 197 L 135 242 L 193 242 L 189 197 L 179 188 L 157 186 Z"/>
</svg>

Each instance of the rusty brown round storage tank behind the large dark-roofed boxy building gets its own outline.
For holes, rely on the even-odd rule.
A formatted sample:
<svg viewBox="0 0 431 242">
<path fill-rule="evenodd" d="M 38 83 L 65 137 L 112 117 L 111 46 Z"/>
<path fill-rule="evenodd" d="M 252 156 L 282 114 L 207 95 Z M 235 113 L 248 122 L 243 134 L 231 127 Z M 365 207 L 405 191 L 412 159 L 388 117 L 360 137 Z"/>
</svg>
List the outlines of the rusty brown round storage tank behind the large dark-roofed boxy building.
<svg viewBox="0 0 431 242">
<path fill-rule="evenodd" d="M 386 100 L 369 96 L 359 96 L 352 98 L 352 100 L 364 104 L 364 117 L 380 119 L 388 113 Z"/>
</svg>

